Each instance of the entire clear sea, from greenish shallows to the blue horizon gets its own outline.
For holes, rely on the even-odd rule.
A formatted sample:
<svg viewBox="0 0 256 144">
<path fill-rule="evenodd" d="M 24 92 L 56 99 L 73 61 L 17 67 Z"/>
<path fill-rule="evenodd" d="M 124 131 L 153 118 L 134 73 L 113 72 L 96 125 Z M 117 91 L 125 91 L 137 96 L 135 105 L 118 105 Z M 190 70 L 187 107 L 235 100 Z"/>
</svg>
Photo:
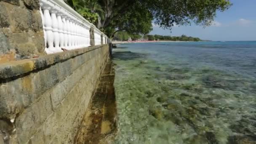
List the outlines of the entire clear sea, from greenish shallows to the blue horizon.
<svg viewBox="0 0 256 144">
<path fill-rule="evenodd" d="M 120 144 L 255 144 L 256 42 L 121 44 Z"/>
</svg>

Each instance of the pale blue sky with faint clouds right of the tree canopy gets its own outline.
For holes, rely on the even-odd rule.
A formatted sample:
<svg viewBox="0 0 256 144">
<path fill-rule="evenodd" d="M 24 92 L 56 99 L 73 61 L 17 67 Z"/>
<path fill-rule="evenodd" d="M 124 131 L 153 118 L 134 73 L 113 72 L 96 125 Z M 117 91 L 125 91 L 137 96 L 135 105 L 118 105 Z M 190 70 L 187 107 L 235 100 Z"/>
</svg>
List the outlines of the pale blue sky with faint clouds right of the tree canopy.
<svg viewBox="0 0 256 144">
<path fill-rule="evenodd" d="M 150 34 L 200 37 L 203 40 L 256 40 L 256 0 L 230 0 L 232 7 L 218 12 L 213 25 L 175 26 L 170 31 L 153 24 Z"/>
</svg>

